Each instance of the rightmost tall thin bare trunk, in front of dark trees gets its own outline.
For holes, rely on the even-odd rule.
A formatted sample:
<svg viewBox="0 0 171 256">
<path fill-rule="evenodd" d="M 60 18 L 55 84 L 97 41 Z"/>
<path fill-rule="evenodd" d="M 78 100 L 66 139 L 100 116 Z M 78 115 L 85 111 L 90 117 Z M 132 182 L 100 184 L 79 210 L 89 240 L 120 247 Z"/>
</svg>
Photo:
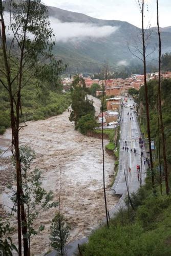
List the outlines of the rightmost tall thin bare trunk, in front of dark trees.
<svg viewBox="0 0 171 256">
<path fill-rule="evenodd" d="M 168 195 L 169 194 L 169 187 L 168 187 L 168 174 L 167 174 L 167 160 L 166 160 L 164 126 L 163 126 L 162 109 L 161 109 L 161 37 L 160 37 L 160 28 L 159 28 L 159 5 L 158 5 L 158 0 L 157 0 L 157 31 L 158 31 L 158 37 L 159 37 L 159 80 L 158 80 L 159 115 L 160 115 L 161 136 L 162 136 L 162 143 L 163 143 L 165 186 L 166 186 L 166 194 Z"/>
</svg>

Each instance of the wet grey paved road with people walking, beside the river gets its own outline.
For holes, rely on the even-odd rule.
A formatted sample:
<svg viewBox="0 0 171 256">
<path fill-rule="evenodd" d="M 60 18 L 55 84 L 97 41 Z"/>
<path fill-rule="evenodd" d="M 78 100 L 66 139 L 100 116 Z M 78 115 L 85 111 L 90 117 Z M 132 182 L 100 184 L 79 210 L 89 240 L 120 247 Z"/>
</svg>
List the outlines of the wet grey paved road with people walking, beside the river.
<svg viewBox="0 0 171 256">
<path fill-rule="evenodd" d="M 129 100 L 129 104 L 133 104 L 132 100 Z M 127 113 L 129 112 L 129 115 Z M 115 190 L 116 195 L 124 195 L 126 193 L 126 183 L 124 177 L 124 170 L 126 173 L 126 178 L 129 184 L 129 191 L 132 193 L 137 190 L 140 186 L 140 181 L 137 178 L 137 168 L 136 165 L 140 165 L 140 145 L 138 138 L 140 137 L 139 125 L 137 122 L 136 114 L 133 113 L 133 110 L 130 108 L 123 108 L 122 119 L 121 120 L 121 134 L 120 134 L 120 155 L 119 155 L 119 169 L 118 175 L 116 177 L 115 183 L 112 186 L 112 189 Z M 131 120 L 130 120 L 131 118 Z M 125 146 L 124 141 L 127 142 L 129 151 L 123 150 L 122 147 Z M 131 153 L 131 148 L 133 152 Z M 134 154 L 134 148 L 137 151 L 137 154 Z M 142 150 L 143 151 L 143 150 Z M 143 152 L 144 156 L 145 152 Z M 131 168 L 131 173 L 128 172 L 128 168 Z M 142 158 L 142 184 L 145 179 L 145 166 Z"/>
</svg>

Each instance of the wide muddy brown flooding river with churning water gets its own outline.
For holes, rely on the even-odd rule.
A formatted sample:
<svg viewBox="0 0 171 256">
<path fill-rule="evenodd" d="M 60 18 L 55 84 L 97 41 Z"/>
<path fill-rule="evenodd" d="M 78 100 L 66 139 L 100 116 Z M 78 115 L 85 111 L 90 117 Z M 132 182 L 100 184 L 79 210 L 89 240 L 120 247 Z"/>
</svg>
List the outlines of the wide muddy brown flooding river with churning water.
<svg viewBox="0 0 171 256">
<path fill-rule="evenodd" d="M 100 101 L 91 98 L 96 113 L 99 113 Z M 61 211 L 71 228 L 70 241 L 88 236 L 105 217 L 101 140 L 86 137 L 75 131 L 74 123 L 69 121 L 68 111 L 46 120 L 27 122 L 27 127 L 20 131 L 19 137 L 21 144 L 31 146 L 36 152 L 37 157 L 32 168 L 38 167 L 42 170 L 43 187 L 54 191 L 55 200 L 58 200 L 59 182 L 61 183 Z M 0 138 L 10 139 L 10 129 Z M 108 141 L 104 140 L 104 144 L 106 143 Z M 4 163 L 4 172 L 7 165 L 8 163 Z M 3 174 L 3 168 L 0 172 Z M 118 202 L 109 186 L 109 175 L 113 173 L 113 157 L 105 153 L 106 197 L 109 210 Z M 6 205 L 3 206 L 4 210 L 8 210 L 10 201 L 5 185 L 1 202 Z M 53 208 L 40 212 L 35 222 L 35 226 L 44 224 L 45 230 L 32 240 L 31 252 L 34 255 L 43 255 L 50 249 L 49 227 L 55 211 Z M 15 225 L 14 219 L 13 217 L 12 222 Z M 17 243 L 16 233 L 13 239 Z"/>
</svg>

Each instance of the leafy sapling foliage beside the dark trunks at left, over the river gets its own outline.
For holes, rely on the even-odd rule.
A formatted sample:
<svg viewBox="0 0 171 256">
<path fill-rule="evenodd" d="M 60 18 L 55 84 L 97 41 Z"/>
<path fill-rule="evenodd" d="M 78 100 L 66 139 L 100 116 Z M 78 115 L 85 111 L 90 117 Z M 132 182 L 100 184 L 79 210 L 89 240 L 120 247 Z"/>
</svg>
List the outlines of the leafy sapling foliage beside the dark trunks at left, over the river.
<svg viewBox="0 0 171 256">
<path fill-rule="evenodd" d="M 29 146 L 20 146 L 20 161 L 22 167 L 22 186 L 23 186 L 23 201 L 26 205 L 26 216 L 27 216 L 27 226 L 28 226 L 28 240 L 35 236 L 40 231 L 44 230 L 44 225 L 40 225 L 35 228 L 34 221 L 38 218 L 40 210 L 46 210 L 58 205 L 57 202 L 53 202 L 53 192 L 46 191 L 41 187 L 41 170 L 34 168 L 31 170 L 31 162 L 35 159 L 35 152 L 31 150 Z M 12 158 L 13 164 L 15 165 L 15 160 Z M 9 188 L 13 192 L 11 200 L 16 202 L 16 192 L 9 185 Z M 15 207 L 14 207 L 15 210 Z"/>
</svg>

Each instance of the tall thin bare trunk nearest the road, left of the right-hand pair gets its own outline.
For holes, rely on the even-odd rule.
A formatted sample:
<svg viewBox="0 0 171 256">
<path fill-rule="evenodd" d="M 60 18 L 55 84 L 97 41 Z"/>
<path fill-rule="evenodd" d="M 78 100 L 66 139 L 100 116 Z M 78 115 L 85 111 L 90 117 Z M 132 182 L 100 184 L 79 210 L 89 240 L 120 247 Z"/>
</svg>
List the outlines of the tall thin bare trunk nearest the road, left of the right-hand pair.
<svg viewBox="0 0 171 256">
<path fill-rule="evenodd" d="M 139 3 L 140 5 L 140 3 Z M 152 158 L 152 146 L 151 146 L 151 133 L 149 127 L 149 106 L 148 106 L 148 89 L 146 82 L 146 58 L 145 58 L 145 39 L 144 39 L 144 0 L 142 0 L 142 45 L 143 45 L 143 66 L 144 66 L 144 87 L 145 87 L 145 105 L 146 105 L 146 118 L 147 118 L 147 135 L 148 135 L 148 144 L 149 144 L 149 159 L 151 163 L 151 172 L 152 172 L 152 186 L 154 188 L 154 168 L 153 168 L 153 158 Z"/>
</svg>

